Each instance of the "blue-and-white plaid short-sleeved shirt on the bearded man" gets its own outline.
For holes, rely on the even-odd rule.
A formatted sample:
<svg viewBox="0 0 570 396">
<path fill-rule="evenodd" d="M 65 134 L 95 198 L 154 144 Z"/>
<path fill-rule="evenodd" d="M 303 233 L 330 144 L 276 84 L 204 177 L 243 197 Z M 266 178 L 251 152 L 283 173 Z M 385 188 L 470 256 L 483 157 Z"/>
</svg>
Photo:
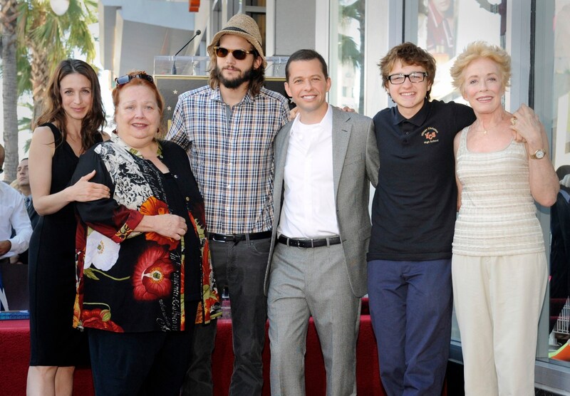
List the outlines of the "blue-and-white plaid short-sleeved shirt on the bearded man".
<svg viewBox="0 0 570 396">
<path fill-rule="evenodd" d="M 283 95 L 265 88 L 229 107 L 209 86 L 178 98 L 167 140 L 182 146 L 204 197 L 210 232 L 245 234 L 273 226 L 273 140 L 288 121 Z"/>
</svg>

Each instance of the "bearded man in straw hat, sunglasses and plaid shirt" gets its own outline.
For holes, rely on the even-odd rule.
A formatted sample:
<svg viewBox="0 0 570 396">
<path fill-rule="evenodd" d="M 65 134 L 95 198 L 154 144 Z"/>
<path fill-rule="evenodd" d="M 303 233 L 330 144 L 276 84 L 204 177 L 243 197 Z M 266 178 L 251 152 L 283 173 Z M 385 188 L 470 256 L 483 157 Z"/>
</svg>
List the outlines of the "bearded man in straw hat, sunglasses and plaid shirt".
<svg viewBox="0 0 570 396">
<path fill-rule="evenodd" d="M 251 17 L 229 19 L 207 51 L 209 86 L 180 95 L 167 139 L 190 157 L 204 196 L 214 276 L 232 301 L 235 360 L 229 394 L 261 395 L 273 140 L 289 108 L 284 96 L 263 87 L 267 63 Z M 196 326 L 183 395 L 212 395 L 215 334 L 216 321 Z"/>
</svg>

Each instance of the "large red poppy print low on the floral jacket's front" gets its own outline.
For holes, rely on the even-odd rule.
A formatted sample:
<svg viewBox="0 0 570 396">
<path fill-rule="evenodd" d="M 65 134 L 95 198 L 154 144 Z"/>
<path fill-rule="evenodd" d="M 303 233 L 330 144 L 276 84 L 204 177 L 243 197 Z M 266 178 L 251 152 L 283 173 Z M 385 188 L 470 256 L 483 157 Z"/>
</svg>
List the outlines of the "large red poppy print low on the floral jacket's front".
<svg viewBox="0 0 570 396">
<path fill-rule="evenodd" d="M 133 293 L 137 300 L 164 298 L 172 290 L 170 274 L 174 266 L 165 246 L 151 244 L 138 258 L 133 273 Z"/>
</svg>

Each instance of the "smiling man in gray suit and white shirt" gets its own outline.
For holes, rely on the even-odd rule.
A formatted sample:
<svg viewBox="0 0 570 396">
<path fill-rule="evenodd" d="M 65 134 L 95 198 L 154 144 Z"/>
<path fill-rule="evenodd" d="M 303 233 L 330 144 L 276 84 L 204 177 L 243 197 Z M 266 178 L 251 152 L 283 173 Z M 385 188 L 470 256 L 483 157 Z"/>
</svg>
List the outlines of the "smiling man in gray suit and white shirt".
<svg viewBox="0 0 570 396">
<path fill-rule="evenodd" d="M 369 187 L 379 166 L 373 123 L 326 103 L 331 78 L 315 51 L 296 51 L 285 73 L 299 113 L 274 142 L 275 226 L 265 278 L 271 395 L 305 394 L 310 316 L 321 340 L 326 394 L 356 395 Z"/>
</svg>

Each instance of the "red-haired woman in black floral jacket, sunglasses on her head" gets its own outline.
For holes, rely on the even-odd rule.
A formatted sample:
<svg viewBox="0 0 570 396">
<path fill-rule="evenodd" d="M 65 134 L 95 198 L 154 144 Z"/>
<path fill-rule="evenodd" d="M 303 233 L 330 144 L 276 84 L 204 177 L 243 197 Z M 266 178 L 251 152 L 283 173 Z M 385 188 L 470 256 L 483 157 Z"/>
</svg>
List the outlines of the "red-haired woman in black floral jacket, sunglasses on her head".
<svg viewBox="0 0 570 396">
<path fill-rule="evenodd" d="M 152 76 L 133 71 L 116 83 L 116 130 L 72 178 L 95 171 L 112 194 L 76 204 L 73 324 L 87 329 L 97 395 L 177 396 L 197 304 L 209 296 L 204 203 L 185 151 L 157 138 L 164 101 Z"/>
</svg>

